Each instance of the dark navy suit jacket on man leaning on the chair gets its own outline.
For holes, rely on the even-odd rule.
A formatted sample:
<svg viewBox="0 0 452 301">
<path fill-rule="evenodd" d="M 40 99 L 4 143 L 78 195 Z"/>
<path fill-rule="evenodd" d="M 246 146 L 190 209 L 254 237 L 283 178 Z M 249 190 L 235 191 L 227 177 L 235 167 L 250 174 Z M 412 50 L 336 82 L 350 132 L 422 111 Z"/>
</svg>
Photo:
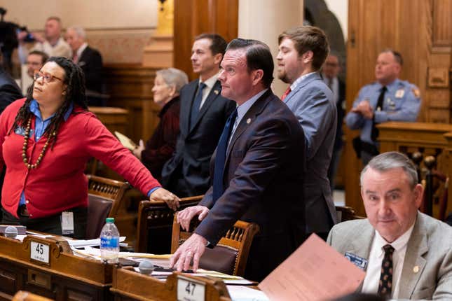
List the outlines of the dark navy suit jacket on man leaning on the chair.
<svg viewBox="0 0 452 301">
<path fill-rule="evenodd" d="M 245 276 L 261 281 L 304 239 L 304 135 L 292 112 L 271 90 L 240 121 L 226 152 L 224 194 L 212 202 L 212 187 L 200 205 L 210 213 L 196 233 L 217 244 L 237 220 L 254 222 Z M 214 174 L 215 155 L 211 160 Z"/>
</svg>

